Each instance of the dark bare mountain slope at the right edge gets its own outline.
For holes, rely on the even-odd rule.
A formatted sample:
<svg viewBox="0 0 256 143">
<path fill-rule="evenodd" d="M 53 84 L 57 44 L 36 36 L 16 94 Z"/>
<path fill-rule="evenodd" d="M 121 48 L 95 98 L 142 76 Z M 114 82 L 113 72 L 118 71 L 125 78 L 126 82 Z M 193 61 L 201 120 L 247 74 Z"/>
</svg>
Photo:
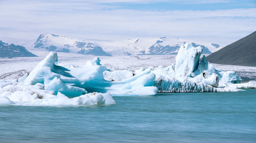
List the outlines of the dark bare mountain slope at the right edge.
<svg viewBox="0 0 256 143">
<path fill-rule="evenodd" d="M 256 66 L 256 31 L 207 56 L 210 63 Z"/>
</svg>

